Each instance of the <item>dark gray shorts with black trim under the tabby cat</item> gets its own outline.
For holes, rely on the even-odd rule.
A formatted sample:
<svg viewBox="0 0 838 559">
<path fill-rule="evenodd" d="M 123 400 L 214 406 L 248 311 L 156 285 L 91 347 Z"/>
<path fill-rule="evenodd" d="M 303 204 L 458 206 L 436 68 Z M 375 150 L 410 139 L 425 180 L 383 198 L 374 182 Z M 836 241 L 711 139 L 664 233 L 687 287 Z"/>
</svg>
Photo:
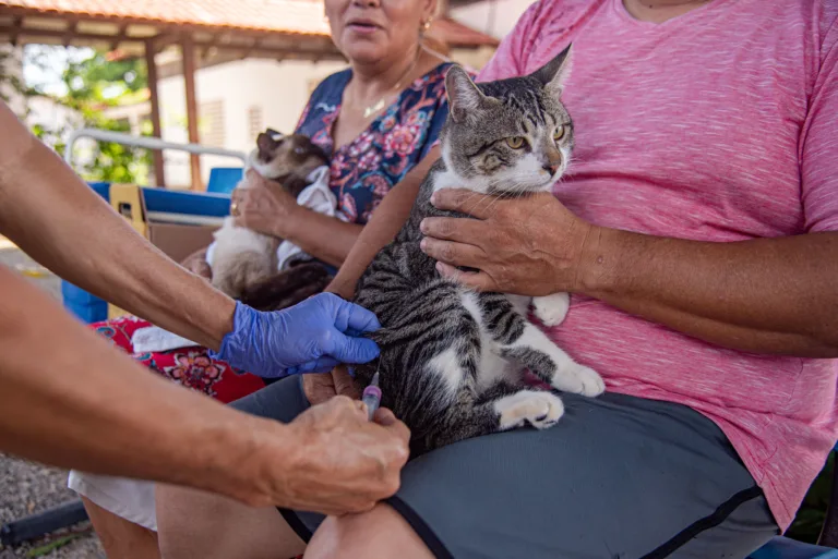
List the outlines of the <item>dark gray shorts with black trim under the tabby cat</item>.
<svg viewBox="0 0 838 559">
<path fill-rule="evenodd" d="M 439 558 L 741 559 L 778 533 L 716 425 L 683 405 L 564 394 L 546 430 L 479 437 L 410 461 L 387 502 Z M 234 404 L 282 422 L 299 378 Z M 306 540 L 323 517 L 280 510 Z"/>
</svg>

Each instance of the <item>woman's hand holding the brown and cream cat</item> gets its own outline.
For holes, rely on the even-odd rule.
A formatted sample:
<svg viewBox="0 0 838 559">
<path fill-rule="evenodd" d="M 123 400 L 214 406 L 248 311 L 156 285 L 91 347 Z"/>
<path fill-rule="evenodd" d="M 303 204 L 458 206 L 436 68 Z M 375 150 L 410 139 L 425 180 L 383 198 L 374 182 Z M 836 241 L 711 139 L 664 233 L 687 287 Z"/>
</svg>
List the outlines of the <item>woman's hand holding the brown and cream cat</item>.
<svg viewBox="0 0 838 559">
<path fill-rule="evenodd" d="M 291 214 L 299 209 L 297 200 L 282 184 L 248 171 L 248 186 L 236 189 L 231 195 L 231 211 L 236 224 L 259 233 L 285 239 Z"/>
</svg>

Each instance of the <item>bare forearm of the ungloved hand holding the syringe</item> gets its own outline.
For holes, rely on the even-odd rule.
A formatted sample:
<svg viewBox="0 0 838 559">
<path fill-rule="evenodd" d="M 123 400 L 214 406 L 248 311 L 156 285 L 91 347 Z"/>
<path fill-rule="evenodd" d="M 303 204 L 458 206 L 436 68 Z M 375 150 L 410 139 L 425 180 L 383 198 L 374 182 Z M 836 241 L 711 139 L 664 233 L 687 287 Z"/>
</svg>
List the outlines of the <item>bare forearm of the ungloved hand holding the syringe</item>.
<svg viewBox="0 0 838 559">
<path fill-rule="evenodd" d="M 0 293 L 0 449 L 254 497 L 254 418 L 147 372 L 1 267 Z"/>
</svg>

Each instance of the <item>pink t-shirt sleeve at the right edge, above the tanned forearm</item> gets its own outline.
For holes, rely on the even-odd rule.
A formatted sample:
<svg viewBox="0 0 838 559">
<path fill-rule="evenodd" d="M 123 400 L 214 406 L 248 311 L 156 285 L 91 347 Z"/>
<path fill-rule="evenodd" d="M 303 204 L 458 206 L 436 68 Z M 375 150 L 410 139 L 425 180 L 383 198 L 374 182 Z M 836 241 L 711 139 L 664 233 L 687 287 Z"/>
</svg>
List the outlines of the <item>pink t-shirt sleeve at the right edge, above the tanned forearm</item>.
<svg viewBox="0 0 838 559">
<path fill-rule="evenodd" d="M 800 136 L 806 230 L 838 231 L 838 22 L 827 31 Z"/>
</svg>

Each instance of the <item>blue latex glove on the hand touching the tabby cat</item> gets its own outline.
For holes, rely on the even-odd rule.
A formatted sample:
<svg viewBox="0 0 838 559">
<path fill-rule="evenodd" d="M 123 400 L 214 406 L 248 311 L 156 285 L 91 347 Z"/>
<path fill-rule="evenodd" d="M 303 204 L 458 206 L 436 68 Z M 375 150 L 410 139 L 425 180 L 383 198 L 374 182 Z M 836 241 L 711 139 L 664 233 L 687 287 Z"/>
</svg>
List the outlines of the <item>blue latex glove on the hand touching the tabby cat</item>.
<svg viewBox="0 0 838 559">
<path fill-rule="evenodd" d="M 273 313 L 237 302 L 232 331 L 210 355 L 266 378 L 326 373 L 378 357 L 375 342 L 357 336 L 379 328 L 374 314 L 332 293 Z"/>
</svg>

